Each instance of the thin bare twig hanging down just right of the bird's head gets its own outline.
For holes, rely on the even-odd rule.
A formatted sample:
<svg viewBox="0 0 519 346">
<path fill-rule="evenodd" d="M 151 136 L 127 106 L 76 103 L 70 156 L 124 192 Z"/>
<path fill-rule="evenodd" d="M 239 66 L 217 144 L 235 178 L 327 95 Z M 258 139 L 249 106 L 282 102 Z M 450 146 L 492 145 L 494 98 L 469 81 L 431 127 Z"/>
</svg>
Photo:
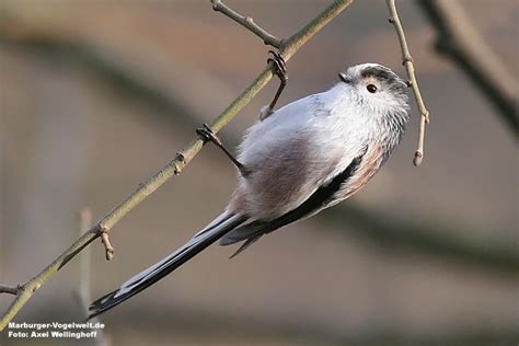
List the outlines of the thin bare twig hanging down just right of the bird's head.
<svg viewBox="0 0 519 346">
<path fill-rule="evenodd" d="M 429 111 L 427 111 L 422 94 L 419 92 L 418 82 L 416 81 L 415 67 L 413 64 L 413 57 L 411 56 L 410 48 L 407 47 L 407 42 L 405 39 L 404 28 L 402 22 L 399 18 L 399 12 L 396 11 L 395 0 L 387 0 L 388 9 L 390 12 L 390 23 L 393 24 L 396 35 L 399 36 L 400 47 L 402 49 L 402 64 L 405 67 L 407 77 L 410 79 L 411 88 L 415 94 L 416 104 L 418 105 L 418 111 L 422 115 L 419 123 L 419 134 L 418 134 L 418 148 L 416 149 L 413 163 L 415 166 L 418 166 L 422 163 L 424 158 L 424 139 L 425 139 L 425 125 L 429 123 Z"/>
</svg>

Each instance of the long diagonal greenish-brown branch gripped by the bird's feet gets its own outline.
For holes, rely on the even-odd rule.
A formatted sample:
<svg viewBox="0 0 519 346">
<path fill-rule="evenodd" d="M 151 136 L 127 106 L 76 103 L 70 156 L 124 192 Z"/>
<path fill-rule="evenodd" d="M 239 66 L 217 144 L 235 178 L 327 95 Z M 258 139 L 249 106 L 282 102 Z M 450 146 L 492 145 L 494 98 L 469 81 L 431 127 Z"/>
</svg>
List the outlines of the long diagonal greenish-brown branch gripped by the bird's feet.
<svg viewBox="0 0 519 346">
<path fill-rule="evenodd" d="M 293 35 L 282 41 L 280 54 L 288 60 L 303 46 L 313 35 L 323 28 L 330 21 L 337 16 L 344 9 L 351 3 L 351 0 L 335 0 L 323 12 L 315 16 L 304 27 Z M 273 77 L 274 65 L 269 64 L 260 76 L 244 90 L 210 125 L 215 132 L 218 132 L 226 126 L 251 100 L 267 84 Z M 124 216 L 138 206 L 146 197 L 151 195 L 165 182 L 174 175 L 178 175 L 182 170 L 195 158 L 201 150 L 203 140 L 195 138 L 187 147 L 178 152 L 162 170 L 157 172 L 148 181 L 139 184 L 137 189 L 108 212 L 100 221 L 90 228 L 88 232 L 81 235 L 68 250 L 59 255 L 44 270 L 21 286 L 16 298 L 8 308 L 8 311 L 0 320 L 0 331 L 3 331 L 8 323 L 18 314 L 18 312 L 31 299 L 34 292 L 48 279 L 50 279 L 59 269 L 61 269 L 70 260 L 88 246 L 93 240 L 108 232 Z"/>
</svg>

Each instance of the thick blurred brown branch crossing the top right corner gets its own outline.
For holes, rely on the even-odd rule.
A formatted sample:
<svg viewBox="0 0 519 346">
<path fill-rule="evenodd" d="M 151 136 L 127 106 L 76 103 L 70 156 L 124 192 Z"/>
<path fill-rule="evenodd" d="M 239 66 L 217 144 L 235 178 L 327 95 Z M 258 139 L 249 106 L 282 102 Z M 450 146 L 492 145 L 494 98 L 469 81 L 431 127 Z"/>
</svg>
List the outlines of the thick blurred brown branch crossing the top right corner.
<svg viewBox="0 0 519 346">
<path fill-rule="evenodd" d="M 418 4 L 437 30 L 437 51 L 466 73 L 517 136 L 518 82 L 481 37 L 463 7 L 457 0 L 420 0 Z"/>
</svg>

